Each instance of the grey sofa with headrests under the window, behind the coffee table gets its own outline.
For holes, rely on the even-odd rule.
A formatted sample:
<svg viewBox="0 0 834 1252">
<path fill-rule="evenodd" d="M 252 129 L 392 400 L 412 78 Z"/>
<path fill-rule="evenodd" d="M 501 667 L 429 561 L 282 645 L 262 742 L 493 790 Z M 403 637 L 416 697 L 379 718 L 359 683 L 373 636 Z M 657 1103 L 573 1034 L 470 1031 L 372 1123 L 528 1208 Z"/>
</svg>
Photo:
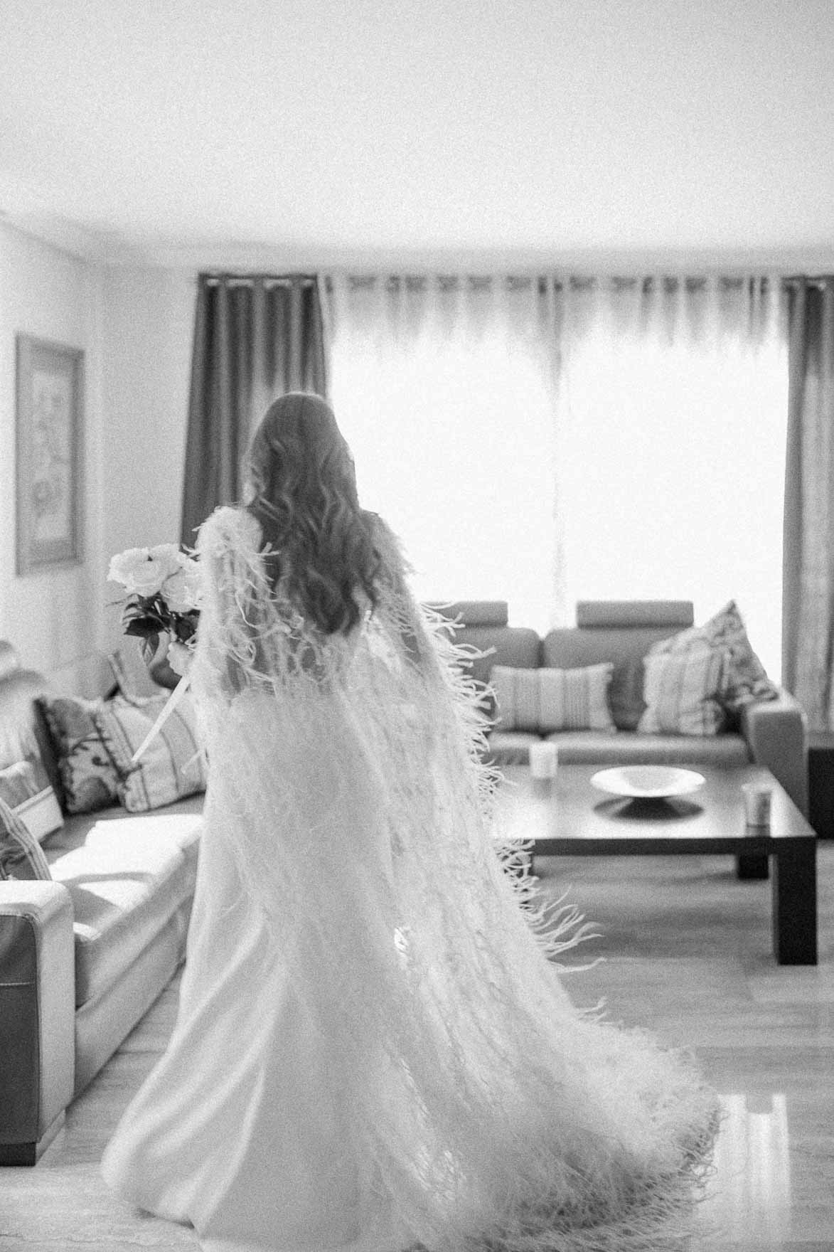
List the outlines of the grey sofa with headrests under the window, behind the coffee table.
<svg viewBox="0 0 834 1252">
<path fill-rule="evenodd" d="M 642 734 L 642 661 L 650 647 L 691 627 L 691 601 L 580 601 L 576 625 L 543 637 L 523 626 L 508 626 L 505 601 L 458 601 L 433 605 L 455 623 L 453 639 L 473 654 L 468 662 L 478 684 L 490 684 L 495 666 L 512 669 L 580 669 L 612 662 L 609 702 L 616 734 L 559 730 L 547 735 L 503 730 L 488 734 L 488 760 L 498 766 L 526 764 L 530 745 L 542 737 L 559 747 L 564 762 L 614 765 L 664 764 L 766 766 L 798 809 L 808 815 L 808 729 L 804 711 L 786 691 L 746 705 L 721 734 L 709 736 Z"/>
</svg>

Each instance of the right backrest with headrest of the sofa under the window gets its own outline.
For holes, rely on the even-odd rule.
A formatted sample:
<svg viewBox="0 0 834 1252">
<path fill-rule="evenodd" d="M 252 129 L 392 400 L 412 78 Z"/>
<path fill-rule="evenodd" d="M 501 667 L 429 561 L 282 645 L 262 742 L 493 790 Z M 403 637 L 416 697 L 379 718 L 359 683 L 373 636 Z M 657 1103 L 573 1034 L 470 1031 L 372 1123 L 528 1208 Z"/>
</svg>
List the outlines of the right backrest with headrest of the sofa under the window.
<svg viewBox="0 0 834 1252">
<path fill-rule="evenodd" d="M 644 710 L 642 659 L 652 644 L 692 625 L 691 601 L 580 601 L 576 621 L 545 636 L 541 664 L 570 670 L 612 661 L 611 716 L 617 730 L 635 730 Z"/>
</svg>

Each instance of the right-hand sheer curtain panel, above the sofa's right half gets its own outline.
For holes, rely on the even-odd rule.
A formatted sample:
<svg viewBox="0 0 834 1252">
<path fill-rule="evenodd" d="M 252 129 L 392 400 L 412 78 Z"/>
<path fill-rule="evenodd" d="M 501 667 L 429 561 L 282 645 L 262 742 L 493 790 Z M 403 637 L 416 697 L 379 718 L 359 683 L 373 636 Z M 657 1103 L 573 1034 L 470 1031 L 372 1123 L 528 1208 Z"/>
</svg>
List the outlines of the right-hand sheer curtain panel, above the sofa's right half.
<svg viewBox="0 0 834 1252">
<path fill-rule="evenodd" d="M 557 282 L 567 601 L 735 598 L 780 675 L 788 367 L 769 275 Z"/>
</svg>

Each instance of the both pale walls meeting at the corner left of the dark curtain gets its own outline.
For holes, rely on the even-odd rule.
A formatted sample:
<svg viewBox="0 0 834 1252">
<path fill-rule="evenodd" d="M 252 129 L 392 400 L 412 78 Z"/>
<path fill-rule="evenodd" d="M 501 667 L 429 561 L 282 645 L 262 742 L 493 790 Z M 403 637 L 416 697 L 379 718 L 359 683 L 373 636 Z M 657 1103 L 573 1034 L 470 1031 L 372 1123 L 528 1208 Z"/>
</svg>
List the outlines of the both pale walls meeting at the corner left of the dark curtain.
<svg viewBox="0 0 834 1252">
<path fill-rule="evenodd" d="M 109 558 L 179 538 L 195 278 L 84 260 L 0 223 L 0 639 L 93 694 L 123 642 Z M 85 353 L 84 560 L 15 573 L 15 336 Z"/>
</svg>

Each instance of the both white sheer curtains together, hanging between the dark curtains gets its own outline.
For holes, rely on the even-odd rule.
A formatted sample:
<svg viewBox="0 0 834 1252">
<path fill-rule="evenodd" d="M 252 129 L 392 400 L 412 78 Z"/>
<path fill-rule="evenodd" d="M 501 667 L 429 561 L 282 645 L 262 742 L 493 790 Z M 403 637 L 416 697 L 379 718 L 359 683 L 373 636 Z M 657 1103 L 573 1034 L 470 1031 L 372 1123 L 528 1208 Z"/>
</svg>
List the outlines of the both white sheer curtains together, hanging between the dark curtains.
<svg viewBox="0 0 834 1252">
<path fill-rule="evenodd" d="M 769 275 L 328 279 L 363 502 L 426 598 L 735 598 L 780 669 L 786 357 Z"/>
</svg>

